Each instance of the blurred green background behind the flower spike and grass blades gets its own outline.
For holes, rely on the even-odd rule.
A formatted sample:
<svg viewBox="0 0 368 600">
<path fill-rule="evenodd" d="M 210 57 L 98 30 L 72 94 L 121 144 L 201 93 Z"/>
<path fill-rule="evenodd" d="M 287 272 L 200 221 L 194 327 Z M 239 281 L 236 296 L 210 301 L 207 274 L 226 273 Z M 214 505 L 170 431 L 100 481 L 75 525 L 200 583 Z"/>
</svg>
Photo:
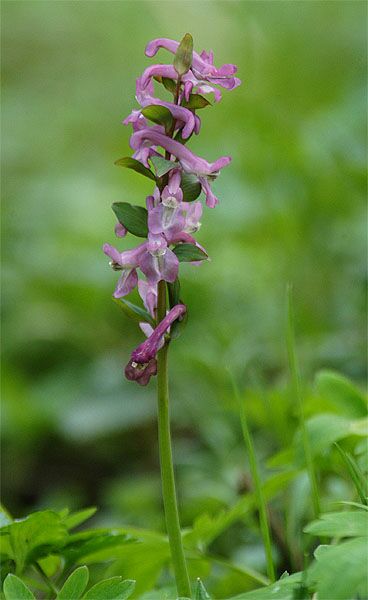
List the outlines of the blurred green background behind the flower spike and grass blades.
<svg viewBox="0 0 368 600">
<path fill-rule="evenodd" d="M 120 122 L 155 37 L 189 31 L 243 80 L 201 112 L 191 142 L 233 161 L 198 235 L 212 261 L 182 267 L 183 524 L 242 487 L 226 367 L 249 392 L 259 456 L 290 441 L 287 282 L 307 388 L 321 367 L 364 382 L 365 13 L 359 1 L 2 2 L 3 500 L 15 515 L 96 503 L 110 524 L 163 527 L 155 385 L 123 378 L 142 334 L 111 301 L 101 250 L 134 243 L 116 242 L 111 204 L 152 189 L 113 163 L 130 153 Z"/>
</svg>

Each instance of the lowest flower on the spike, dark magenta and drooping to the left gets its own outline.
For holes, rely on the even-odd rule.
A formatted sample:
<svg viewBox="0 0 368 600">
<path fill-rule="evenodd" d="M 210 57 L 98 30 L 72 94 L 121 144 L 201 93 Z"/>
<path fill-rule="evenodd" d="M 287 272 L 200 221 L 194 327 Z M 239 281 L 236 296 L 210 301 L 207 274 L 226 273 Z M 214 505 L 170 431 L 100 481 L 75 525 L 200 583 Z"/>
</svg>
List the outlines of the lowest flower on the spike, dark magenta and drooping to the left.
<svg viewBox="0 0 368 600">
<path fill-rule="evenodd" d="M 140 385 L 147 385 L 152 375 L 157 372 L 156 354 L 162 347 L 165 333 L 177 319 L 186 313 L 184 304 L 177 304 L 157 325 L 152 334 L 140 344 L 131 354 L 131 358 L 125 367 L 125 376 L 130 381 L 136 381 Z"/>
</svg>

